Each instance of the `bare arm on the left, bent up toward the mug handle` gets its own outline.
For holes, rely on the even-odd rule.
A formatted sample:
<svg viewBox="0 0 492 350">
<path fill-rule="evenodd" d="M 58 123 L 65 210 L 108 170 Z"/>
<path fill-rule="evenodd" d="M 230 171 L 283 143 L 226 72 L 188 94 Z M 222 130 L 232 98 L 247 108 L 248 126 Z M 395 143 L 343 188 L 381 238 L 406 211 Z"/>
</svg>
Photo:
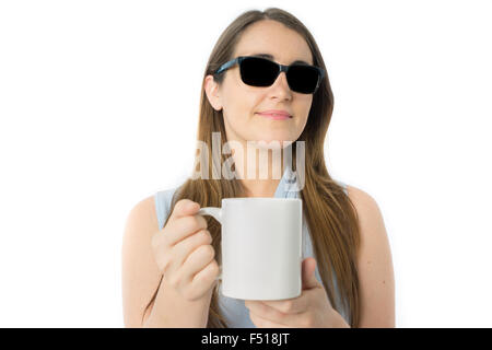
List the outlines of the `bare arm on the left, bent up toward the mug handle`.
<svg viewBox="0 0 492 350">
<path fill-rule="evenodd" d="M 207 327 L 210 302 L 187 301 L 163 281 L 151 247 L 159 222 L 153 197 L 128 214 L 122 243 L 122 306 L 126 327 Z M 154 295 L 155 302 L 149 302 Z"/>
</svg>

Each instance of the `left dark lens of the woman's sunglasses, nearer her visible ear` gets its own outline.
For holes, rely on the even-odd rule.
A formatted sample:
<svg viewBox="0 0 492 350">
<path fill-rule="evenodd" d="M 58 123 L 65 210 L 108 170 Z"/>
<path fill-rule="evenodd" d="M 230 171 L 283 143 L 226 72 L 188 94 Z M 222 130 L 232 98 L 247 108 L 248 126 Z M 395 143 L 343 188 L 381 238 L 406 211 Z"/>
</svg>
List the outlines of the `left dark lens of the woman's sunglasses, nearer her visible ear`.
<svg viewBox="0 0 492 350">
<path fill-rule="evenodd" d="M 279 75 L 279 67 L 268 59 L 248 57 L 241 63 L 241 79 L 251 86 L 270 86 Z"/>
</svg>

